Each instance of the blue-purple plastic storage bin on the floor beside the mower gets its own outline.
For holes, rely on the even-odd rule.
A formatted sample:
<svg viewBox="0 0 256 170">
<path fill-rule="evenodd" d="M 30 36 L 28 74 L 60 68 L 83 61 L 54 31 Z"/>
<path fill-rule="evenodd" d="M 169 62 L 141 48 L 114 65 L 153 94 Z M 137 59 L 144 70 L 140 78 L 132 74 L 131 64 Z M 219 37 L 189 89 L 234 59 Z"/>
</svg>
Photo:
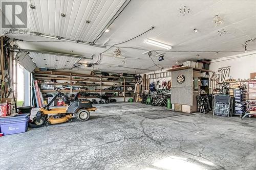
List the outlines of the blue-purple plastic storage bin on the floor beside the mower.
<svg viewBox="0 0 256 170">
<path fill-rule="evenodd" d="M 28 130 L 28 123 L 28 114 L 17 114 L 14 117 L 0 118 L 0 130 L 4 135 L 23 133 Z"/>
</svg>

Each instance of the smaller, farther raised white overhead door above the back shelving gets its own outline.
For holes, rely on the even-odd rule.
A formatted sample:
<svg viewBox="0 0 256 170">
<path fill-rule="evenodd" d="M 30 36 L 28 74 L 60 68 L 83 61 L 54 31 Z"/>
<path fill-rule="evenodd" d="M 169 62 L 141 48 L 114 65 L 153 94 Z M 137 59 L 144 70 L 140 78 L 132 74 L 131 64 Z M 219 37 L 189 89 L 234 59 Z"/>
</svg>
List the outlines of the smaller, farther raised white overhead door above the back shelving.
<svg viewBox="0 0 256 170">
<path fill-rule="evenodd" d="M 30 53 L 30 57 L 37 67 L 47 68 L 71 68 L 78 62 L 79 58 L 56 56 L 50 54 Z"/>
</svg>

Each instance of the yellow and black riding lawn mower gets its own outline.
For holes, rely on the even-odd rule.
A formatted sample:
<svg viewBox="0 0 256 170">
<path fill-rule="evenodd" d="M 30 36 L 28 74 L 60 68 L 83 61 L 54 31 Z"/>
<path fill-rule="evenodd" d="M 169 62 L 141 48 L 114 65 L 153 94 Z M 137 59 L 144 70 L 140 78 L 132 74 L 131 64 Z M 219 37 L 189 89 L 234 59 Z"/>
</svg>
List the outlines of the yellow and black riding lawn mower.
<svg viewBox="0 0 256 170">
<path fill-rule="evenodd" d="M 97 109 L 92 106 L 90 100 L 78 99 L 79 93 L 74 96 L 73 100 L 68 97 L 64 97 L 63 101 L 66 106 L 50 108 L 51 104 L 58 96 L 64 96 L 60 91 L 56 91 L 58 93 L 53 97 L 53 99 L 46 106 L 41 107 L 36 113 L 36 116 L 32 120 L 34 125 L 41 127 L 51 124 L 71 122 L 73 115 L 75 115 L 79 121 L 84 122 L 89 119 L 90 111 L 95 111 Z"/>
</svg>

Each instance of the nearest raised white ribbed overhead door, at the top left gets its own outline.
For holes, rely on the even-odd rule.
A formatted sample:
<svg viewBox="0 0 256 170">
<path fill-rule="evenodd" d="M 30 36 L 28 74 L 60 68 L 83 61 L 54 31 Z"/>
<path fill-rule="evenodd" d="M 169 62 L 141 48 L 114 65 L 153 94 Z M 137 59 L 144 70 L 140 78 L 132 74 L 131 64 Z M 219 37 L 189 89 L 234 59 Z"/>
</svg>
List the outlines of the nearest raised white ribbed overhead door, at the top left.
<svg viewBox="0 0 256 170">
<path fill-rule="evenodd" d="M 35 5 L 35 9 L 28 8 L 28 27 L 39 33 L 92 42 L 124 2 L 30 0 L 28 4 Z"/>
</svg>

